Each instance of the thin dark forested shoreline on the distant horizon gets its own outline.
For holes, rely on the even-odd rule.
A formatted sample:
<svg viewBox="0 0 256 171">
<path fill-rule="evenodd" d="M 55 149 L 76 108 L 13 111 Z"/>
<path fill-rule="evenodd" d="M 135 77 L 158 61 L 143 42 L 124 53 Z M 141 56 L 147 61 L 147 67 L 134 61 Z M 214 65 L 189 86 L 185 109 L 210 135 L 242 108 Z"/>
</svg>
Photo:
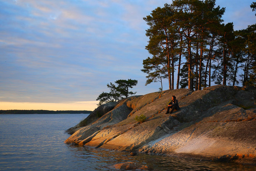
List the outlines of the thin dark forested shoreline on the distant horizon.
<svg viewBox="0 0 256 171">
<path fill-rule="evenodd" d="M 61 114 L 61 113 L 69 113 L 69 114 L 90 114 L 92 111 L 88 110 L 0 110 L 0 114 Z"/>
</svg>

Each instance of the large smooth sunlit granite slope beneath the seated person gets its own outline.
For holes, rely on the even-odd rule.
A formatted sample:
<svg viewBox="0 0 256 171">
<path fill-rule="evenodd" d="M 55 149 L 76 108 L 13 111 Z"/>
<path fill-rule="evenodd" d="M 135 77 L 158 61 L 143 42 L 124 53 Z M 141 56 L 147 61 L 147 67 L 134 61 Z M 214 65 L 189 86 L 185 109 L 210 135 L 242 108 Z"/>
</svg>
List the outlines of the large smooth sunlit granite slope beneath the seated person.
<svg viewBox="0 0 256 171">
<path fill-rule="evenodd" d="M 172 95 L 181 110 L 165 114 Z M 256 163 L 256 90 L 212 86 L 125 98 L 65 143 Z M 136 116 L 145 115 L 139 123 Z"/>
</svg>

